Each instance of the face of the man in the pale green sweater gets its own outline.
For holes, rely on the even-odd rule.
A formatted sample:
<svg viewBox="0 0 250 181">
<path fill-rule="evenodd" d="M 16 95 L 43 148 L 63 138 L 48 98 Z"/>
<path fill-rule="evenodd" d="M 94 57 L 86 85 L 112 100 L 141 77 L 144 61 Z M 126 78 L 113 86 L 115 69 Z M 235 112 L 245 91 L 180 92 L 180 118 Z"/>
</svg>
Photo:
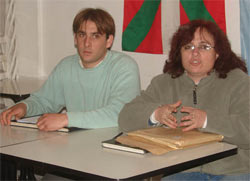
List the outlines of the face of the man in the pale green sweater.
<svg viewBox="0 0 250 181">
<path fill-rule="evenodd" d="M 93 21 L 85 21 L 74 35 L 75 45 L 85 68 L 93 68 L 106 55 L 107 49 L 113 43 L 113 36 L 107 39 L 106 34 L 100 34 Z"/>
</svg>

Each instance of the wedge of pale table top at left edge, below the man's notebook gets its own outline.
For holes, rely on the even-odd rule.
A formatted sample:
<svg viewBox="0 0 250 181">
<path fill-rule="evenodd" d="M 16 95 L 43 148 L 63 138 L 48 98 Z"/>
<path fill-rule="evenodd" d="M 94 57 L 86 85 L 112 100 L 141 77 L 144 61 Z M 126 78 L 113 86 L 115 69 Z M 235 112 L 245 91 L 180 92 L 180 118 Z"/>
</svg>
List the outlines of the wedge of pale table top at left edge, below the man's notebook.
<svg viewBox="0 0 250 181">
<path fill-rule="evenodd" d="M 37 129 L 1 126 L 0 124 L 0 149 L 11 145 L 60 136 L 62 134 L 64 133 L 43 132 Z"/>
</svg>

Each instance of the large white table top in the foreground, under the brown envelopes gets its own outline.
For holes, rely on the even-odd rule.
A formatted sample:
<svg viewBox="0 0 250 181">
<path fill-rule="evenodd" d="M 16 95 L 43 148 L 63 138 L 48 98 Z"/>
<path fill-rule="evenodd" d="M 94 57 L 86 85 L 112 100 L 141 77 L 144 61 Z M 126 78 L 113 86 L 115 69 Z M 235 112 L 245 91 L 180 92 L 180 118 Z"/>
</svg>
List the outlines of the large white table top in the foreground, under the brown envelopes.
<svg viewBox="0 0 250 181">
<path fill-rule="evenodd" d="M 211 143 L 162 156 L 102 148 L 101 141 L 112 138 L 118 132 L 118 128 L 72 132 L 4 147 L 1 153 L 106 178 L 126 179 L 236 148 L 226 143 Z"/>
</svg>

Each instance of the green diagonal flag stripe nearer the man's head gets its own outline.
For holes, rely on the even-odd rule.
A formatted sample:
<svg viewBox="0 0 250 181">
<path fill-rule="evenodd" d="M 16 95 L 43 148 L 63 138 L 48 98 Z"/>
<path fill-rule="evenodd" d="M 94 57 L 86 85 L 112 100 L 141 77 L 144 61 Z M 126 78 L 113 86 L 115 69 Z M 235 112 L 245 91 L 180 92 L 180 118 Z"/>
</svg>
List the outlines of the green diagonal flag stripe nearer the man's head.
<svg viewBox="0 0 250 181">
<path fill-rule="evenodd" d="M 147 36 L 161 0 L 144 0 L 140 10 L 122 34 L 122 49 L 135 51 Z"/>
</svg>

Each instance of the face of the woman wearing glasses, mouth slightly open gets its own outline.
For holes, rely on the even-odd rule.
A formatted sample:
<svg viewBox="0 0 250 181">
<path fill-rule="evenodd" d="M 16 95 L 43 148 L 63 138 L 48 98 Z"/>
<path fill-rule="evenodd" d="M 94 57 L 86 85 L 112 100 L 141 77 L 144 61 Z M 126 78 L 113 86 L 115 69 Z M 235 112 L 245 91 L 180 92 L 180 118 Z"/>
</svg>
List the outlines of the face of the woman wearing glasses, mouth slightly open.
<svg viewBox="0 0 250 181">
<path fill-rule="evenodd" d="M 214 46 L 213 36 L 206 30 L 201 32 L 198 28 L 194 33 L 194 39 L 181 48 L 182 65 L 195 83 L 199 83 L 213 69 L 219 56 Z"/>
</svg>

